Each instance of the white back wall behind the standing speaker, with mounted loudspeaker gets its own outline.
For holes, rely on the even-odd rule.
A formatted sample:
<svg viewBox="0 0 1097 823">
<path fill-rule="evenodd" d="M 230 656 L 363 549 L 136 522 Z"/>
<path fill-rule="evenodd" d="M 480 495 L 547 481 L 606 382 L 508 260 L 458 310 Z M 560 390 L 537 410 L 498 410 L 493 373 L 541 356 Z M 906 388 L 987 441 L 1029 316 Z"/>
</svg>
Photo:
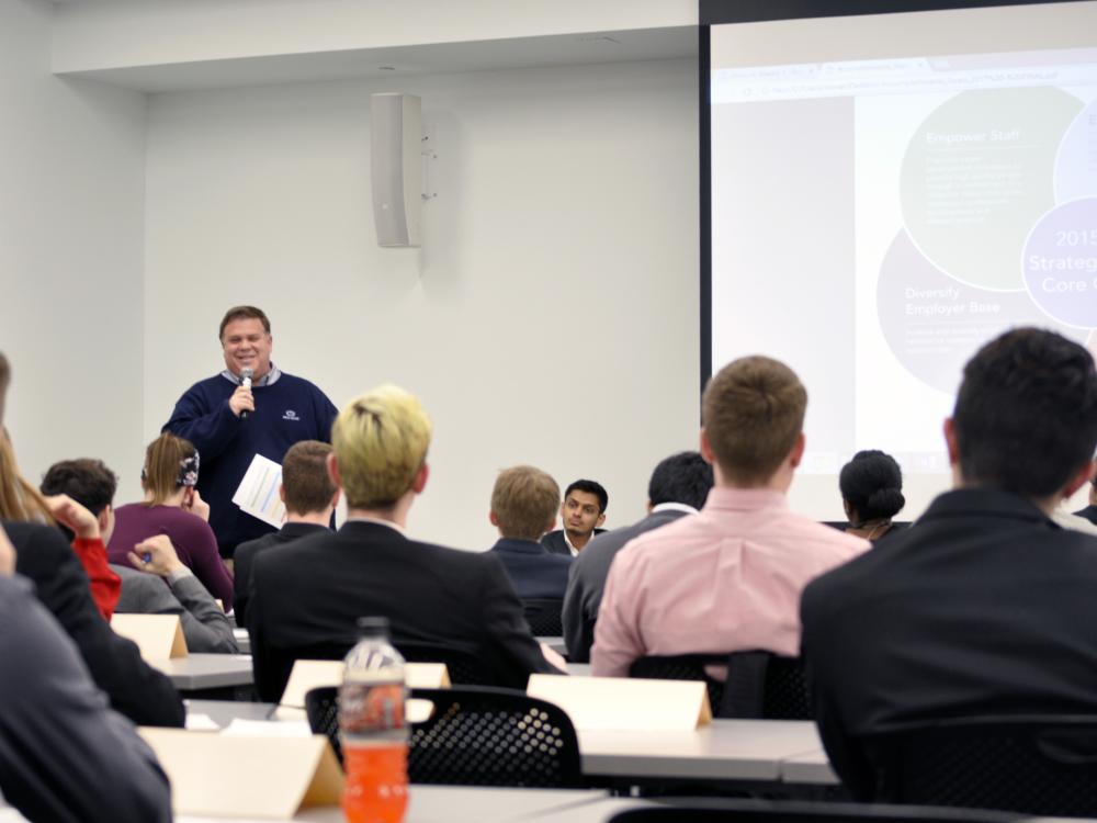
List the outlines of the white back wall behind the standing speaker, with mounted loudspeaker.
<svg viewBox="0 0 1097 823">
<path fill-rule="evenodd" d="M 337 405 L 383 381 L 436 424 L 418 537 L 494 540 L 497 470 L 529 462 L 643 514 L 695 448 L 698 133 L 692 60 L 423 77 L 439 198 L 421 250 L 381 249 L 369 81 L 159 94 L 147 136 L 145 437 L 222 364 L 256 303 L 274 360 Z"/>
</svg>

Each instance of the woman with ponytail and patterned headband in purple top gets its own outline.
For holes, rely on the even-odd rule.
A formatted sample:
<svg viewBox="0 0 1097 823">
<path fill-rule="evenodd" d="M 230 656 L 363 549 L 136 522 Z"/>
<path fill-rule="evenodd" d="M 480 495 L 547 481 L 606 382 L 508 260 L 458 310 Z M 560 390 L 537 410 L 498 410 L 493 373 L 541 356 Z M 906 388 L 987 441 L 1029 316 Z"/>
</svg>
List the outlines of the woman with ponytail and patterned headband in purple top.
<svg viewBox="0 0 1097 823">
<path fill-rule="evenodd" d="M 111 563 L 123 565 L 137 543 L 167 534 L 206 590 L 225 611 L 233 610 L 233 577 L 217 551 L 217 539 L 206 520 L 210 507 L 199 496 L 199 453 L 186 440 L 160 435 L 145 451 L 142 486 L 145 499 L 120 506 L 114 512 L 114 534 L 106 544 Z"/>
</svg>

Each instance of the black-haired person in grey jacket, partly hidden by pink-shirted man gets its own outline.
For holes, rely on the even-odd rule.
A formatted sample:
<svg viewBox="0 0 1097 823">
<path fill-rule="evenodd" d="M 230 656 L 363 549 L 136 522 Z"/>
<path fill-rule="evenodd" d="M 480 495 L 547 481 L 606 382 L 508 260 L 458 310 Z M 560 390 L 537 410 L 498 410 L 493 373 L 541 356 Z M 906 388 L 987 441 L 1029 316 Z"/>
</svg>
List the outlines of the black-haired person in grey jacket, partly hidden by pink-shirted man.
<svg viewBox="0 0 1097 823">
<path fill-rule="evenodd" d="M 595 622 L 602 604 L 602 589 L 610 564 L 633 538 L 695 515 L 712 488 L 712 466 L 695 451 L 683 451 L 661 461 L 647 484 L 647 517 L 632 526 L 613 529 L 590 541 L 572 565 L 564 597 L 564 643 L 567 658 L 590 659 Z"/>
</svg>

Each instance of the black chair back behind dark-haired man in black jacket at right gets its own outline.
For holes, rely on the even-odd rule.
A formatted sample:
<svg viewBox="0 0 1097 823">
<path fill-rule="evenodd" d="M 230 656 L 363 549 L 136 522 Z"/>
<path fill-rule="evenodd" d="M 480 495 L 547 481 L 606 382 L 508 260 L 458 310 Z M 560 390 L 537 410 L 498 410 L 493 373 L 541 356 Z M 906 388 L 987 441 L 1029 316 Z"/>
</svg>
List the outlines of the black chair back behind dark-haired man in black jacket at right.
<svg viewBox="0 0 1097 823">
<path fill-rule="evenodd" d="M 1097 717 L 954 718 L 862 737 L 884 802 L 1097 815 Z"/>
</svg>

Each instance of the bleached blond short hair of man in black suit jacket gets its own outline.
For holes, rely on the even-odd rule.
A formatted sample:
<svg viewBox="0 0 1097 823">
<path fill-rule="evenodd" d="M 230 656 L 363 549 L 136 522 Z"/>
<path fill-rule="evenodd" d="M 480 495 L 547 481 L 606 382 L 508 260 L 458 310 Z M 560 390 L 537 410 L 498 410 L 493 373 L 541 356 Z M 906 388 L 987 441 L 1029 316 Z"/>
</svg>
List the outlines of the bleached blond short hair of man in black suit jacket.
<svg viewBox="0 0 1097 823">
<path fill-rule="evenodd" d="M 430 433 L 419 401 L 399 386 L 378 386 L 351 401 L 331 427 L 347 505 L 392 508 L 422 466 Z"/>
</svg>

